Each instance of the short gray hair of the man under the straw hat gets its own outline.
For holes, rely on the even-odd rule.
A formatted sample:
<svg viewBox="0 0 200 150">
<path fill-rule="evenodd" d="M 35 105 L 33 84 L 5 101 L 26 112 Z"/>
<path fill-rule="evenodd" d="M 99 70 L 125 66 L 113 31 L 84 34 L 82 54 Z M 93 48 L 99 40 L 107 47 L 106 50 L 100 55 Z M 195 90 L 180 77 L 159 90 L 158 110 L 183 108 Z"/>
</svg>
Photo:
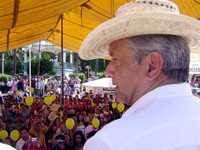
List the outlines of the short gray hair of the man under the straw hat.
<svg viewBox="0 0 200 150">
<path fill-rule="evenodd" d="M 141 35 L 128 38 L 137 63 L 151 52 L 159 52 L 164 59 L 163 73 L 169 79 L 186 82 L 189 74 L 190 50 L 187 41 L 175 35 Z"/>
</svg>

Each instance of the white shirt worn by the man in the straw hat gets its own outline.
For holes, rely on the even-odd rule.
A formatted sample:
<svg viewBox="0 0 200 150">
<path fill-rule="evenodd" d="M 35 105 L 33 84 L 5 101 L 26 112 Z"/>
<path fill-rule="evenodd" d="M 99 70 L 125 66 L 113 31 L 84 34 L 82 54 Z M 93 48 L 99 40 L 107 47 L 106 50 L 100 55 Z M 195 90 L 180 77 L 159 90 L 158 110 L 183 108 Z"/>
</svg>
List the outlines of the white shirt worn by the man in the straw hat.
<svg viewBox="0 0 200 150">
<path fill-rule="evenodd" d="M 84 146 L 84 150 L 196 149 L 200 149 L 200 101 L 187 83 L 145 94 Z"/>
</svg>

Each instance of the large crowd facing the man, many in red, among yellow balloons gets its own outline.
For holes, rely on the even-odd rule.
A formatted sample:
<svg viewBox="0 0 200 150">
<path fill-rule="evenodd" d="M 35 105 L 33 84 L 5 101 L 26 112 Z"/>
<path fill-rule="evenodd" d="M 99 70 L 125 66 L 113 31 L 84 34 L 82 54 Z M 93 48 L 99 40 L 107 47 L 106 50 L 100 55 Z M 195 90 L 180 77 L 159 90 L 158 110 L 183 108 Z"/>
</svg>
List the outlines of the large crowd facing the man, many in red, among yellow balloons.
<svg viewBox="0 0 200 150">
<path fill-rule="evenodd" d="M 19 80 L 16 90 L 1 99 L 0 105 L 0 130 L 10 133 L 13 130 L 20 132 L 20 138 L 16 141 L 10 136 L 1 139 L 3 143 L 16 147 L 17 150 L 82 150 L 85 141 L 93 136 L 108 122 L 120 118 L 121 112 L 112 107 L 113 95 L 96 94 L 92 91 L 80 92 L 77 82 L 68 82 L 65 90 L 63 104 L 60 103 L 60 94 L 56 89 L 56 81 L 50 79 L 44 84 L 42 92 L 37 88 L 33 94 L 33 104 L 28 106 L 25 102 L 28 96 L 25 80 Z M 70 81 L 70 80 L 69 80 Z M 75 80 L 77 81 L 77 80 Z M 20 83 L 21 82 L 21 83 Z M 33 82 L 32 82 L 33 83 Z M 40 85 L 43 83 L 41 82 Z M 48 89 L 49 88 L 49 89 Z M 12 87 L 11 87 L 12 90 Z M 20 94 L 16 94 L 20 91 Z M 23 94 L 22 94 L 23 93 Z M 50 105 L 44 103 L 44 96 L 55 95 Z M 66 125 L 67 119 L 73 119 L 74 125 L 69 129 Z M 95 127 L 92 120 L 97 118 L 100 124 Z"/>
</svg>

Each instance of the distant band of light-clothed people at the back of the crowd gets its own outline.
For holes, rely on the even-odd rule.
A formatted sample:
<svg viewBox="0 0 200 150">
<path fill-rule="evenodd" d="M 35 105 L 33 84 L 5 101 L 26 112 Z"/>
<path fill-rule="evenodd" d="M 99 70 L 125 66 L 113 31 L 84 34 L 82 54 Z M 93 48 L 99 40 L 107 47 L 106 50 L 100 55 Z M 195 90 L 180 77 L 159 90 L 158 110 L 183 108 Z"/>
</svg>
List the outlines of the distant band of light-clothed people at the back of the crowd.
<svg viewBox="0 0 200 150">
<path fill-rule="evenodd" d="M 64 95 L 73 95 L 75 91 L 80 91 L 81 80 L 78 77 L 64 76 Z M 30 94 L 30 82 L 27 76 L 16 76 L 7 80 L 0 80 L 0 91 L 2 93 L 15 93 L 17 90 L 21 94 Z M 43 97 L 50 91 L 61 94 L 61 76 L 36 76 L 31 79 L 31 88 L 34 89 L 34 96 Z"/>
</svg>

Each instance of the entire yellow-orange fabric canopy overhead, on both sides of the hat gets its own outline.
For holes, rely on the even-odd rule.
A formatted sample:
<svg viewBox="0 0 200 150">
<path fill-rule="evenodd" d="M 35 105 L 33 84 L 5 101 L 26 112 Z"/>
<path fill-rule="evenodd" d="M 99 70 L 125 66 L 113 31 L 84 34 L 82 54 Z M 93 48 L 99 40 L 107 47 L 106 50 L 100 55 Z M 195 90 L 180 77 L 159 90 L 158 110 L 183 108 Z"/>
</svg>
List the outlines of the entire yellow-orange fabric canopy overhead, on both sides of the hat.
<svg viewBox="0 0 200 150">
<path fill-rule="evenodd" d="M 78 51 L 85 36 L 130 0 L 1 0 L 0 51 L 38 40 L 60 45 L 64 13 L 64 48 Z M 200 18 L 200 0 L 174 0 L 183 14 Z"/>
</svg>

